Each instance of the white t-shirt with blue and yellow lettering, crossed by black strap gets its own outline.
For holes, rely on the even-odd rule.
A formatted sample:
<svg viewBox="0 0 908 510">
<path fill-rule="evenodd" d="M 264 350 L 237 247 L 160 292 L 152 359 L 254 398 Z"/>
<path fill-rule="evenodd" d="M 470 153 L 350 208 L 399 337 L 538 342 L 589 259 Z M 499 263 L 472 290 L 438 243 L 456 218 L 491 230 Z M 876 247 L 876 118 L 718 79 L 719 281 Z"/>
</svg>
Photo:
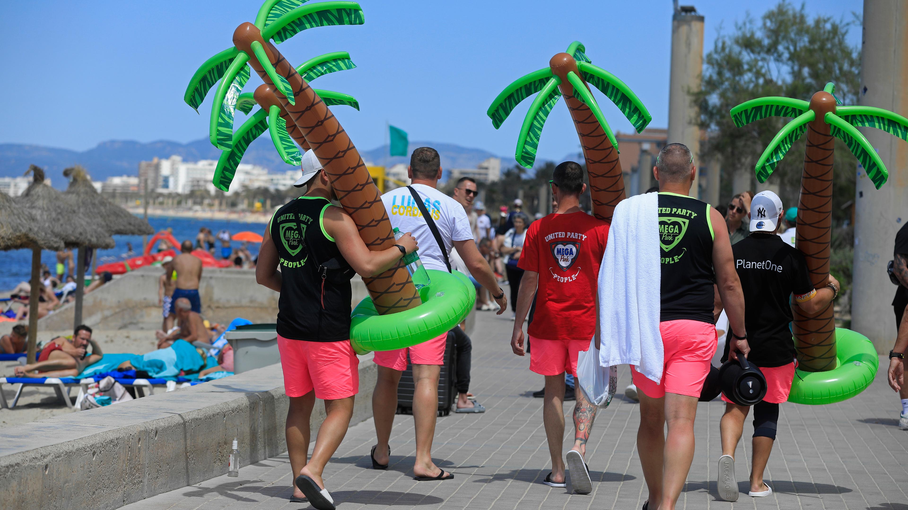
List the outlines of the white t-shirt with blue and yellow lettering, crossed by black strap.
<svg viewBox="0 0 908 510">
<path fill-rule="evenodd" d="M 441 240 L 445 243 L 445 250 L 450 254 L 454 248 L 455 240 L 473 239 L 473 231 L 469 228 L 467 211 L 463 206 L 448 195 L 426 186 L 425 184 L 412 184 L 413 189 L 424 199 L 426 210 L 432 215 L 435 226 L 439 229 Z M 391 220 L 391 226 L 401 232 L 411 232 L 419 243 L 419 260 L 427 270 L 447 271 L 448 266 L 441 255 L 439 243 L 429 230 L 429 225 L 422 218 L 419 206 L 413 201 L 413 195 L 406 187 L 388 191 L 381 195 L 385 204 L 385 211 Z"/>
</svg>

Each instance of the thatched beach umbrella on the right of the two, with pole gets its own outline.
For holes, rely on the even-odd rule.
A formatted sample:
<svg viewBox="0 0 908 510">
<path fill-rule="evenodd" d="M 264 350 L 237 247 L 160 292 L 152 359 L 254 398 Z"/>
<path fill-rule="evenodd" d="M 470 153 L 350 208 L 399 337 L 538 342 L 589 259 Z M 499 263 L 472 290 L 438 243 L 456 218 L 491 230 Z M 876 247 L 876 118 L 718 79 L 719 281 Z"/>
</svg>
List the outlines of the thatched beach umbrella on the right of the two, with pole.
<svg viewBox="0 0 908 510">
<path fill-rule="evenodd" d="M 108 201 L 94 189 L 88 172 L 79 165 L 63 171 L 64 177 L 71 178 L 64 196 L 74 203 L 79 211 L 90 211 L 94 221 L 111 235 L 150 235 L 154 229 L 133 213 L 126 211 L 112 201 Z M 85 285 L 84 246 L 79 246 L 77 253 L 74 327 L 82 323 L 82 297 Z"/>
</svg>

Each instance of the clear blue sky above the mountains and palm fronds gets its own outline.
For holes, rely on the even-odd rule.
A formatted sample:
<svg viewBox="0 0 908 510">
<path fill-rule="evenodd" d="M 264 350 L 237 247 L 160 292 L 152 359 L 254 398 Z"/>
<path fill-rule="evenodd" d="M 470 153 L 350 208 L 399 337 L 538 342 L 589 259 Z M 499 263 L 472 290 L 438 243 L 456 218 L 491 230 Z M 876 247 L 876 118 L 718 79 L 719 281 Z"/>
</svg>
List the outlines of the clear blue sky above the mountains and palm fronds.
<svg viewBox="0 0 908 510">
<path fill-rule="evenodd" d="M 706 16 L 708 51 L 723 28 L 749 11 L 758 17 L 775 2 L 682 0 Z M 851 20 L 860 0 L 808 0 L 812 15 Z M 254 21 L 260 5 L 240 0 L 157 2 L 3 2 L 0 93 L 6 98 L 0 142 L 84 151 L 106 140 L 207 137 L 209 93 L 201 115 L 183 103 L 186 83 L 209 56 L 232 45 L 233 29 Z M 436 2 L 363 0 L 366 24 L 315 28 L 281 44 L 293 64 L 317 54 L 348 51 L 357 69 L 320 78 L 315 86 L 353 94 L 361 111 L 334 108 L 353 142 L 384 142 L 385 123 L 410 140 L 452 142 L 500 155 L 514 145 L 529 101 L 498 130 L 486 109 L 508 83 L 545 67 L 571 41 L 587 46 L 594 64 L 627 83 L 665 127 L 668 106 L 670 0 L 527 0 Z M 800 5 L 800 4 L 795 4 Z M 861 29 L 850 34 L 860 44 Z M 253 73 L 246 91 L 261 83 Z M 600 95 L 600 104 L 608 103 Z M 608 103 L 613 129 L 627 120 Z M 238 113 L 242 122 L 242 113 Z M 578 150 L 563 104 L 550 114 L 540 158 Z"/>
</svg>

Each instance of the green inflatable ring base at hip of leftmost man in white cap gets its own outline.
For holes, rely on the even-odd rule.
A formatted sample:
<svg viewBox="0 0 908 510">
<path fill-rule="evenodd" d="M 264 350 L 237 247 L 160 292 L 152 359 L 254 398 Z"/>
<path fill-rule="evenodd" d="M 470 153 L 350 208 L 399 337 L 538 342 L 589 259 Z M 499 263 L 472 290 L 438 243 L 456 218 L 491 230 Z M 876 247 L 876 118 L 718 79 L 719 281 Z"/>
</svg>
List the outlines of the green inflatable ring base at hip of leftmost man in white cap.
<svg viewBox="0 0 908 510">
<path fill-rule="evenodd" d="M 350 345 L 357 354 L 408 348 L 436 338 L 467 317 L 476 303 L 476 288 L 459 271 L 427 270 L 429 285 L 419 289 L 416 308 L 379 315 L 371 298 L 350 314 Z"/>
</svg>

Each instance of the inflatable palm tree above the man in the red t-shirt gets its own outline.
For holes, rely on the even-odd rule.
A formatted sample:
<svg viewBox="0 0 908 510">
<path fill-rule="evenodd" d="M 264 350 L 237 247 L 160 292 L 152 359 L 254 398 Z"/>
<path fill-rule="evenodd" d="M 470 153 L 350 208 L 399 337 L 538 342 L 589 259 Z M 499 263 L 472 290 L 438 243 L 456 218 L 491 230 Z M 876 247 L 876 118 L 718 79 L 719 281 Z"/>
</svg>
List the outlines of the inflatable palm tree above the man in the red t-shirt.
<svg viewBox="0 0 908 510">
<path fill-rule="evenodd" d="M 625 198 L 624 178 L 615 134 L 608 127 L 606 116 L 587 83 L 592 83 L 606 94 L 637 132 L 646 129 L 652 116 L 624 82 L 593 65 L 585 52 L 583 44 L 577 41 L 571 43 L 567 53 L 551 58 L 548 67 L 509 84 L 489 106 L 488 114 L 492 125 L 498 129 L 518 103 L 534 93 L 538 94 L 520 128 L 514 156 L 521 166 L 532 168 L 548 113 L 564 96 L 587 160 L 593 214 L 600 220 L 610 221 L 615 206 Z"/>
</svg>

